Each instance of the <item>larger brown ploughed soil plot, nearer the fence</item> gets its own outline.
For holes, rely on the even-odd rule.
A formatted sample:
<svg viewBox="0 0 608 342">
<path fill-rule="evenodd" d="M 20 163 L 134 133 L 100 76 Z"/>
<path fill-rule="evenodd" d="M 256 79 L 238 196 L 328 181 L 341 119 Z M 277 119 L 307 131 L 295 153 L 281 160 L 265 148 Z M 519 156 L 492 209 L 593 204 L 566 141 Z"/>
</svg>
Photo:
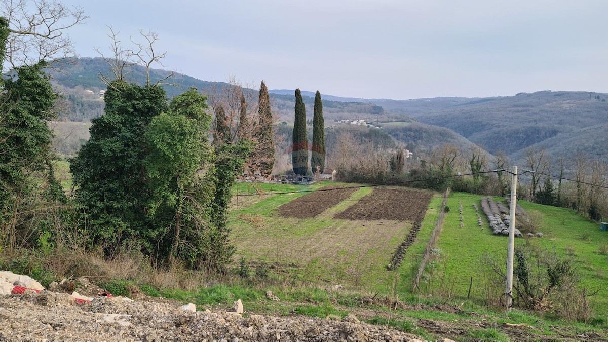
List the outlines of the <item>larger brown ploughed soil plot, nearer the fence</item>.
<svg viewBox="0 0 608 342">
<path fill-rule="evenodd" d="M 420 213 L 429 206 L 432 194 L 407 189 L 376 188 L 361 198 L 336 218 L 343 220 L 393 220 L 412 221 L 420 219 Z"/>
</svg>

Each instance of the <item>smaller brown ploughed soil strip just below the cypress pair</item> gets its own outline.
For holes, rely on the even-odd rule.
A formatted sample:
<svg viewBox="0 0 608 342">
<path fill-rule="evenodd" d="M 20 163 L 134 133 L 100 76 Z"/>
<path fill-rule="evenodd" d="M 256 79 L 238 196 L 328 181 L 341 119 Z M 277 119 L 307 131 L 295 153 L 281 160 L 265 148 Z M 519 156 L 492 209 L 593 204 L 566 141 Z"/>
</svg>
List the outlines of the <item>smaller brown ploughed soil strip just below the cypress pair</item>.
<svg viewBox="0 0 608 342">
<path fill-rule="evenodd" d="M 331 190 L 336 189 L 336 190 Z M 303 197 L 296 198 L 278 207 L 283 217 L 314 218 L 329 208 L 346 200 L 357 189 L 343 189 L 336 186 L 325 186 Z"/>
</svg>

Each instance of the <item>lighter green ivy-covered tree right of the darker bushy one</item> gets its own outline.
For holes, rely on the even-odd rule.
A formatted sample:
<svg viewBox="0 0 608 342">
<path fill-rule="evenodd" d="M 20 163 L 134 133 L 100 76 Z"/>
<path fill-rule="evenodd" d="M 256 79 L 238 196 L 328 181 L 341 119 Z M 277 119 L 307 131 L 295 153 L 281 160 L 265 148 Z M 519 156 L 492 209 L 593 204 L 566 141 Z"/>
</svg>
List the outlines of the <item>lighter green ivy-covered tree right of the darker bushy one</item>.
<svg viewBox="0 0 608 342">
<path fill-rule="evenodd" d="M 190 89 L 174 97 L 168 112 L 155 116 L 145 131 L 151 148 L 145 159 L 150 178 L 147 208 L 154 226 L 146 236 L 157 242 L 157 260 L 177 258 L 195 267 L 207 245 L 213 189 L 198 174 L 212 170 L 207 108 L 206 97 Z"/>
</svg>

